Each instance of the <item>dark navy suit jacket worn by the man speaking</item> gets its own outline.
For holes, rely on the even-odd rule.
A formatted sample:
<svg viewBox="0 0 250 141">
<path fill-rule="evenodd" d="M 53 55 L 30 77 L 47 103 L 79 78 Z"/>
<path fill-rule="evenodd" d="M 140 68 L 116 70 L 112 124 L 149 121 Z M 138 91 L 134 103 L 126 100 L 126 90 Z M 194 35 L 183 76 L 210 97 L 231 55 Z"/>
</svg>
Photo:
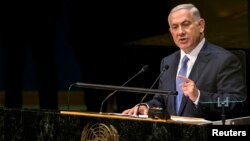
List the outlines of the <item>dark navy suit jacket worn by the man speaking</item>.
<svg viewBox="0 0 250 141">
<path fill-rule="evenodd" d="M 159 89 L 176 91 L 175 80 L 179 59 L 180 51 L 162 59 L 161 70 L 166 65 L 169 66 L 169 69 L 161 76 Z M 229 103 L 229 107 L 225 108 L 226 114 L 231 115 L 242 111 L 242 102 L 235 101 L 245 100 L 245 81 L 241 63 L 231 52 L 206 41 L 197 56 L 189 78 L 200 90 L 199 103 L 195 105 L 184 96 L 178 115 L 219 120 L 221 108 L 217 106 L 218 97 L 220 100 L 228 97 L 229 101 L 232 101 Z M 165 108 L 170 115 L 177 115 L 175 98 L 176 96 L 173 95 L 155 95 L 148 105 Z"/>
</svg>

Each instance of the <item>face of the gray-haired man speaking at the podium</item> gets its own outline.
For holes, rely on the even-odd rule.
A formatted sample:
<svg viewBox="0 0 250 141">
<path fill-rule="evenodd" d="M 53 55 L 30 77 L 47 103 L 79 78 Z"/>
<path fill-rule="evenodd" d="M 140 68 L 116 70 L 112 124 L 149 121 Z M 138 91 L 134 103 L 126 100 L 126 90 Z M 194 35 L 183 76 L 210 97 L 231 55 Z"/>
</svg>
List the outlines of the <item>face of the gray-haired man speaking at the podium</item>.
<svg viewBox="0 0 250 141">
<path fill-rule="evenodd" d="M 205 21 L 195 20 L 188 9 L 175 11 L 169 16 L 169 30 L 175 44 L 186 53 L 192 51 L 203 37 Z"/>
</svg>

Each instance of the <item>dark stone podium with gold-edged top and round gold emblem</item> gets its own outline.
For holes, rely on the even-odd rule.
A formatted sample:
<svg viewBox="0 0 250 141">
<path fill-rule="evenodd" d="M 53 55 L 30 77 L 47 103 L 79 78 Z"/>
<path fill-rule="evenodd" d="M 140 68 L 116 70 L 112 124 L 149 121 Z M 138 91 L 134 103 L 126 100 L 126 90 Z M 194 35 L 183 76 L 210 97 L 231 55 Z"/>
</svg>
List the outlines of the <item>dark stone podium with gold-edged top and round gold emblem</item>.
<svg viewBox="0 0 250 141">
<path fill-rule="evenodd" d="M 138 118 L 109 113 L 0 109 L 1 140 L 206 141 L 211 123 L 202 119 Z M 172 120 L 172 119 L 177 120 Z M 92 137 L 92 138 L 91 138 Z M 88 139 L 87 139 L 88 138 Z"/>
</svg>

